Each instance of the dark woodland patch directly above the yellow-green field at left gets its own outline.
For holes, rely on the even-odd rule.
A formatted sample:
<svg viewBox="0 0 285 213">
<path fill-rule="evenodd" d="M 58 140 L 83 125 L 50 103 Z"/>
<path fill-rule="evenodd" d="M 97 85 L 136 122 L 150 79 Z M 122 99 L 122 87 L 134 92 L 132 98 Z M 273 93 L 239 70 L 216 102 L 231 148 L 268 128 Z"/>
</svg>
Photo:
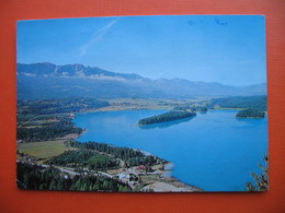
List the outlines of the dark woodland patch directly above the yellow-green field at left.
<svg viewBox="0 0 285 213">
<path fill-rule="evenodd" d="M 58 121 L 35 128 L 20 127 L 16 131 L 16 140 L 24 142 L 49 141 L 70 133 L 80 134 L 82 129 L 75 127 L 70 117 L 57 117 Z"/>
</svg>

